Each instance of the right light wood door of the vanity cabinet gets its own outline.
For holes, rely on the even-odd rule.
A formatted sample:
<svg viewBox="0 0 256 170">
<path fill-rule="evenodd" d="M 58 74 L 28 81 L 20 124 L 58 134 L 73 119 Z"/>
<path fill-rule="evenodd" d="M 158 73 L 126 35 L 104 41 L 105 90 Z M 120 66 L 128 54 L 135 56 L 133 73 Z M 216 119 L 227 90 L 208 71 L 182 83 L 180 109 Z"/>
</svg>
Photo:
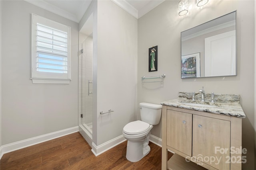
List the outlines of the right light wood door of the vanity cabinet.
<svg viewBox="0 0 256 170">
<path fill-rule="evenodd" d="M 218 170 L 229 170 L 230 121 L 193 115 L 192 155 Z"/>
</svg>

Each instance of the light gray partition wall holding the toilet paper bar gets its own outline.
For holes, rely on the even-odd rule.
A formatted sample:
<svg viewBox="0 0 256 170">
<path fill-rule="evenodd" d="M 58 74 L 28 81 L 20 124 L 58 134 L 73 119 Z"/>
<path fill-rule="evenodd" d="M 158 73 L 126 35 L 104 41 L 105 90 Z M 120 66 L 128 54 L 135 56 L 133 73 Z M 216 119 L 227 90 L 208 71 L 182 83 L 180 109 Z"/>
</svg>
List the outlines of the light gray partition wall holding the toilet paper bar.
<svg viewBox="0 0 256 170">
<path fill-rule="evenodd" d="M 98 139 L 93 142 L 100 145 L 122 135 L 135 119 L 138 20 L 112 1 L 98 1 L 97 15 Z M 100 115 L 108 109 L 114 112 Z"/>
</svg>

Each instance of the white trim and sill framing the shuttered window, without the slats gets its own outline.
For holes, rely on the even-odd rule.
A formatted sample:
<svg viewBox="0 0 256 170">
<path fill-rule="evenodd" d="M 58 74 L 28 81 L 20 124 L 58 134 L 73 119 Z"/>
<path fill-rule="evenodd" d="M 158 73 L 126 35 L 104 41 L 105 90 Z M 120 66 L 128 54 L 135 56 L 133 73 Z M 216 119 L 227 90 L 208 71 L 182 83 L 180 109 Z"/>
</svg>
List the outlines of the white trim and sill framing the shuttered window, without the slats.
<svg viewBox="0 0 256 170">
<path fill-rule="evenodd" d="M 51 26 L 53 28 L 62 30 L 62 27 L 65 27 L 68 32 L 68 73 L 67 74 L 61 74 L 59 73 L 52 73 L 52 72 L 38 72 L 36 71 L 36 31 L 34 31 L 36 28 L 36 20 L 38 20 L 38 23 L 44 24 L 44 23 L 51 23 L 54 26 Z M 34 22 L 35 21 L 35 22 Z M 31 79 L 33 84 L 70 84 L 71 80 L 71 28 L 67 25 L 63 25 L 61 23 L 48 20 L 47 18 L 38 16 L 36 14 L 32 14 L 32 29 L 31 29 Z M 46 24 L 45 24 L 46 25 Z M 64 76 L 66 75 L 66 76 Z M 63 77 L 64 76 L 64 77 Z"/>
</svg>

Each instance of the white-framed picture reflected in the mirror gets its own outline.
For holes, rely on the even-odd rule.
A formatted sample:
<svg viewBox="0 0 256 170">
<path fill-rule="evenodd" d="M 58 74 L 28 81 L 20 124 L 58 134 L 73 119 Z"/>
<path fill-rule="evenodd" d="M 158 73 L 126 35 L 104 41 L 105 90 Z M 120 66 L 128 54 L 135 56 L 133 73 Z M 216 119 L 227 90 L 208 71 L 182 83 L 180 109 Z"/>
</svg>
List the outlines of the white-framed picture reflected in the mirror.
<svg viewBox="0 0 256 170">
<path fill-rule="evenodd" d="M 200 77 L 200 53 L 181 56 L 181 78 Z"/>
</svg>

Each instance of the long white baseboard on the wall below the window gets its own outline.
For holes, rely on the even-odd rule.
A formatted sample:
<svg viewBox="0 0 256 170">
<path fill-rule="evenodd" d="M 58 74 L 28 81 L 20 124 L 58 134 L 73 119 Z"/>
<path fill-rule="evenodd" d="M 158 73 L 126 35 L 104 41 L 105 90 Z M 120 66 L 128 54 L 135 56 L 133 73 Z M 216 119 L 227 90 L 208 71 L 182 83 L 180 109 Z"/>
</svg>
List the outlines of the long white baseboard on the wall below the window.
<svg viewBox="0 0 256 170">
<path fill-rule="evenodd" d="M 22 141 L 18 141 L 18 142 L 14 142 L 14 143 L 10 143 L 7 145 L 3 145 L 0 147 L 0 159 L 2 158 L 3 154 L 8 153 L 8 152 L 12 152 L 14 150 L 18 150 L 18 149 L 22 149 L 22 148 L 26 148 L 32 145 L 36 145 L 38 143 L 42 143 L 45 141 L 50 141 L 52 139 L 58 138 L 58 137 L 62 137 L 65 135 L 69 135 L 71 133 L 75 133 L 78 132 L 78 126 L 76 127 L 71 127 L 68 129 L 64 129 L 61 131 L 56 131 L 56 132 L 52 132 L 52 133 L 48 133 L 46 135 L 41 135 L 38 137 L 33 137 L 30 139 L 25 139 Z"/>
</svg>

